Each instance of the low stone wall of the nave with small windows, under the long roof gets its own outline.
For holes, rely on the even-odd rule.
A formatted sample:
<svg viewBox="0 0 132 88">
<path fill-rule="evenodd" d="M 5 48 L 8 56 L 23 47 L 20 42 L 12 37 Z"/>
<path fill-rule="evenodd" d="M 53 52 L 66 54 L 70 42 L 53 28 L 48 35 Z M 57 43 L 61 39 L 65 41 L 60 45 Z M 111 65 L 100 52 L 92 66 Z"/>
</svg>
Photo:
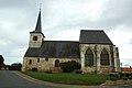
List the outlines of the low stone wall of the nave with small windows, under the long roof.
<svg viewBox="0 0 132 88">
<path fill-rule="evenodd" d="M 40 59 L 40 62 L 38 62 Z M 56 70 L 58 67 L 55 67 L 55 61 L 58 59 L 59 63 L 75 61 L 80 62 L 79 58 L 47 58 L 47 57 L 24 57 L 22 70 L 32 70 L 32 68 L 37 68 L 40 72 L 45 70 Z M 30 64 L 32 61 L 32 64 Z"/>
</svg>

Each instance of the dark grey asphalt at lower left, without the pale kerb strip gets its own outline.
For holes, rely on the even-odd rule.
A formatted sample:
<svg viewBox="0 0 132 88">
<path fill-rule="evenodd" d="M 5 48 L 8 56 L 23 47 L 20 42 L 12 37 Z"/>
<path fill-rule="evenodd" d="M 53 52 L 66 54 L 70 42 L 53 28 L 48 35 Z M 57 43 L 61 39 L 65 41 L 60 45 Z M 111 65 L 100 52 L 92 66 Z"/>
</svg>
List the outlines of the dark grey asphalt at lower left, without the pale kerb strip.
<svg viewBox="0 0 132 88">
<path fill-rule="evenodd" d="M 61 88 L 29 81 L 10 70 L 0 70 L 0 88 Z"/>
</svg>

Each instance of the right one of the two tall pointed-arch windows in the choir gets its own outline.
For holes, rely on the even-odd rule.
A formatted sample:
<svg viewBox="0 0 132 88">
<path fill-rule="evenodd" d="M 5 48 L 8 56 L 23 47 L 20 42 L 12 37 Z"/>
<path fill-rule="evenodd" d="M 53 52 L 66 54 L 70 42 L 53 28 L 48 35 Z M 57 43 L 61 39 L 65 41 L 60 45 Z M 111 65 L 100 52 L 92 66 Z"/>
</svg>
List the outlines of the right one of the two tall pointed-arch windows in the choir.
<svg viewBox="0 0 132 88">
<path fill-rule="evenodd" d="M 103 48 L 100 55 L 101 65 L 110 65 L 109 53 Z"/>
</svg>

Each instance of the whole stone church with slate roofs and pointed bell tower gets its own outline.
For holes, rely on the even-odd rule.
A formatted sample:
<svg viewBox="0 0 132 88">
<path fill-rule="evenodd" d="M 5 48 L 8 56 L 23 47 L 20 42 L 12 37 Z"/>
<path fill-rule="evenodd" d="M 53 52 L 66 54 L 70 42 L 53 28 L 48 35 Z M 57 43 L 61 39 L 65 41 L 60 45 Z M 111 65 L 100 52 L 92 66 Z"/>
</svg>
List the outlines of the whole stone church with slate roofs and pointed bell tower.
<svg viewBox="0 0 132 88">
<path fill-rule="evenodd" d="M 22 70 L 59 70 L 59 64 L 75 61 L 82 73 L 120 70 L 119 50 L 103 30 L 80 30 L 79 41 L 45 41 L 42 33 L 41 10 L 35 30 L 30 32 Z"/>
</svg>

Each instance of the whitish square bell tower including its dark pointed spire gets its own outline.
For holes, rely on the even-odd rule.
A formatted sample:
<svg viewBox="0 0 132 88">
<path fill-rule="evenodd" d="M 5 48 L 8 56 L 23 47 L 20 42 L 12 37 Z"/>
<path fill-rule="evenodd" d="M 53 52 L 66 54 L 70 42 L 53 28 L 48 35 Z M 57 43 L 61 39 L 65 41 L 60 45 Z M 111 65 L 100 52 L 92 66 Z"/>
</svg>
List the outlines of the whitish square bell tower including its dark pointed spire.
<svg viewBox="0 0 132 88">
<path fill-rule="evenodd" d="M 41 10 L 40 10 L 35 30 L 30 32 L 30 44 L 29 44 L 29 47 L 41 47 L 42 42 L 44 41 L 44 37 L 45 36 L 42 33 Z"/>
</svg>

